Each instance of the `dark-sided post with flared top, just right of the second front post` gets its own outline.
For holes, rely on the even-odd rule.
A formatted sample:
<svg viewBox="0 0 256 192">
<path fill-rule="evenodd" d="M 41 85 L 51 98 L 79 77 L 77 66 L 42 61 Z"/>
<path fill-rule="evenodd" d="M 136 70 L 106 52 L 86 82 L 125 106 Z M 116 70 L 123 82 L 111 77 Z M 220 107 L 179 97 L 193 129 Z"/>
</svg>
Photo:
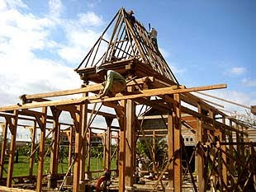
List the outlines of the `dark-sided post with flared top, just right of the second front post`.
<svg viewBox="0 0 256 192">
<path fill-rule="evenodd" d="M 52 134 L 52 150 L 50 152 L 50 176 L 48 178 L 48 187 L 55 189 L 57 187 L 57 174 L 58 174 L 58 145 L 59 145 L 59 115 L 60 111 L 56 110 L 55 107 L 50 108 L 54 117 L 53 121 L 53 134 Z"/>
</svg>

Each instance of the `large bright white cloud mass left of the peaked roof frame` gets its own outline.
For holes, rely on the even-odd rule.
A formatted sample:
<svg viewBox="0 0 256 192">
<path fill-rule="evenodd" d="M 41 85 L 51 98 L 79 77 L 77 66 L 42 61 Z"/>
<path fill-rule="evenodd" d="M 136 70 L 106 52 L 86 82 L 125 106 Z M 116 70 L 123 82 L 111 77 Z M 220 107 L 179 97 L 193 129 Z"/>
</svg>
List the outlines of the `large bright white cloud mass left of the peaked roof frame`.
<svg viewBox="0 0 256 192">
<path fill-rule="evenodd" d="M 21 94 L 80 87 L 70 64 L 78 65 L 83 59 L 99 36 L 93 26 L 102 24 L 102 18 L 93 12 L 62 19 L 64 6 L 57 0 L 49 1 L 49 15 L 45 16 L 23 13 L 24 8 L 28 7 L 21 1 L 0 0 L 0 105 L 19 102 Z M 61 43 L 52 37 L 57 28 L 66 38 Z M 45 51 L 47 54 L 40 54 Z M 70 63 L 57 62 L 58 54 Z"/>
</svg>

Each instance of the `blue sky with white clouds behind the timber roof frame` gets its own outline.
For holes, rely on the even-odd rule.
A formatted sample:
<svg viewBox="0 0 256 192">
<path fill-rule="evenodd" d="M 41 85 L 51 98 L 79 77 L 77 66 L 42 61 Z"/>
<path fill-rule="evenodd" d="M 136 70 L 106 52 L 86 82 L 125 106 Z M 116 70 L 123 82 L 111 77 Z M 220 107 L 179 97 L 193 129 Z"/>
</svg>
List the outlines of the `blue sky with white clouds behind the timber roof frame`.
<svg viewBox="0 0 256 192">
<path fill-rule="evenodd" d="M 181 84 L 227 83 L 210 93 L 256 105 L 254 0 L 0 0 L 0 105 L 17 103 L 23 93 L 79 87 L 73 68 L 120 7 L 158 30 Z"/>
</svg>

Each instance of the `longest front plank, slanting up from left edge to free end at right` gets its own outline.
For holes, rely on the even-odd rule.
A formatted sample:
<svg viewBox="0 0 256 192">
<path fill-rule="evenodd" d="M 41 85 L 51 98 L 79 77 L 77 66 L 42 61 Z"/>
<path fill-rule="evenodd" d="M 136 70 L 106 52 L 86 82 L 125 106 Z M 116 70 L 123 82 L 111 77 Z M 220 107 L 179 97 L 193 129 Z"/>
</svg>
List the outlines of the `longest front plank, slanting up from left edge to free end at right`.
<svg viewBox="0 0 256 192">
<path fill-rule="evenodd" d="M 171 87 L 165 88 L 158 88 L 158 89 L 150 89 L 145 91 L 136 91 L 131 92 L 131 95 L 122 96 L 121 94 L 117 94 L 115 97 L 104 97 L 103 101 L 120 101 L 120 100 L 128 100 L 128 99 L 136 99 L 145 96 L 161 96 L 166 94 L 175 94 L 175 93 L 184 93 L 190 91 L 205 91 L 205 90 L 212 90 L 212 89 L 220 89 L 226 88 L 226 84 L 219 84 L 213 86 L 204 86 L 204 87 L 192 87 L 192 88 L 184 88 L 184 89 L 177 89 L 173 90 Z M 43 101 L 39 103 L 31 103 L 25 105 L 10 105 L 5 107 L 0 107 L 1 111 L 7 110 L 21 110 L 21 109 L 30 109 L 30 108 L 38 108 L 43 106 L 53 106 L 53 105 L 71 105 L 71 104 L 78 104 L 81 102 L 87 101 L 89 103 L 97 103 L 101 102 L 102 99 L 99 99 L 97 96 L 88 96 L 76 99 L 67 99 L 67 100 L 60 100 L 60 101 Z"/>
</svg>

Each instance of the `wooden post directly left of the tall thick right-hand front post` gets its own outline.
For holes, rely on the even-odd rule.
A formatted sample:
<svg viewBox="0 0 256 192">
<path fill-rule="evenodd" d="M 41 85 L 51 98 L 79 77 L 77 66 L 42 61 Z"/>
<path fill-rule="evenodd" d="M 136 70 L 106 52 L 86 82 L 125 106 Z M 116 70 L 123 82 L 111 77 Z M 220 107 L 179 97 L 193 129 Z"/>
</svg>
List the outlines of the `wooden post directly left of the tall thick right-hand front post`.
<svg viewBox="0 0 256 192">
<path fill-rule="evenodd" d="M 174 129 L 173 129 L 173 115 L 168 115 L 168 159 L 173 157 L 174 154 Z M 173 162 L 168 166 L 168 187 L 166 191 L 174 190 L 174 166 Z"/>
</svg>

